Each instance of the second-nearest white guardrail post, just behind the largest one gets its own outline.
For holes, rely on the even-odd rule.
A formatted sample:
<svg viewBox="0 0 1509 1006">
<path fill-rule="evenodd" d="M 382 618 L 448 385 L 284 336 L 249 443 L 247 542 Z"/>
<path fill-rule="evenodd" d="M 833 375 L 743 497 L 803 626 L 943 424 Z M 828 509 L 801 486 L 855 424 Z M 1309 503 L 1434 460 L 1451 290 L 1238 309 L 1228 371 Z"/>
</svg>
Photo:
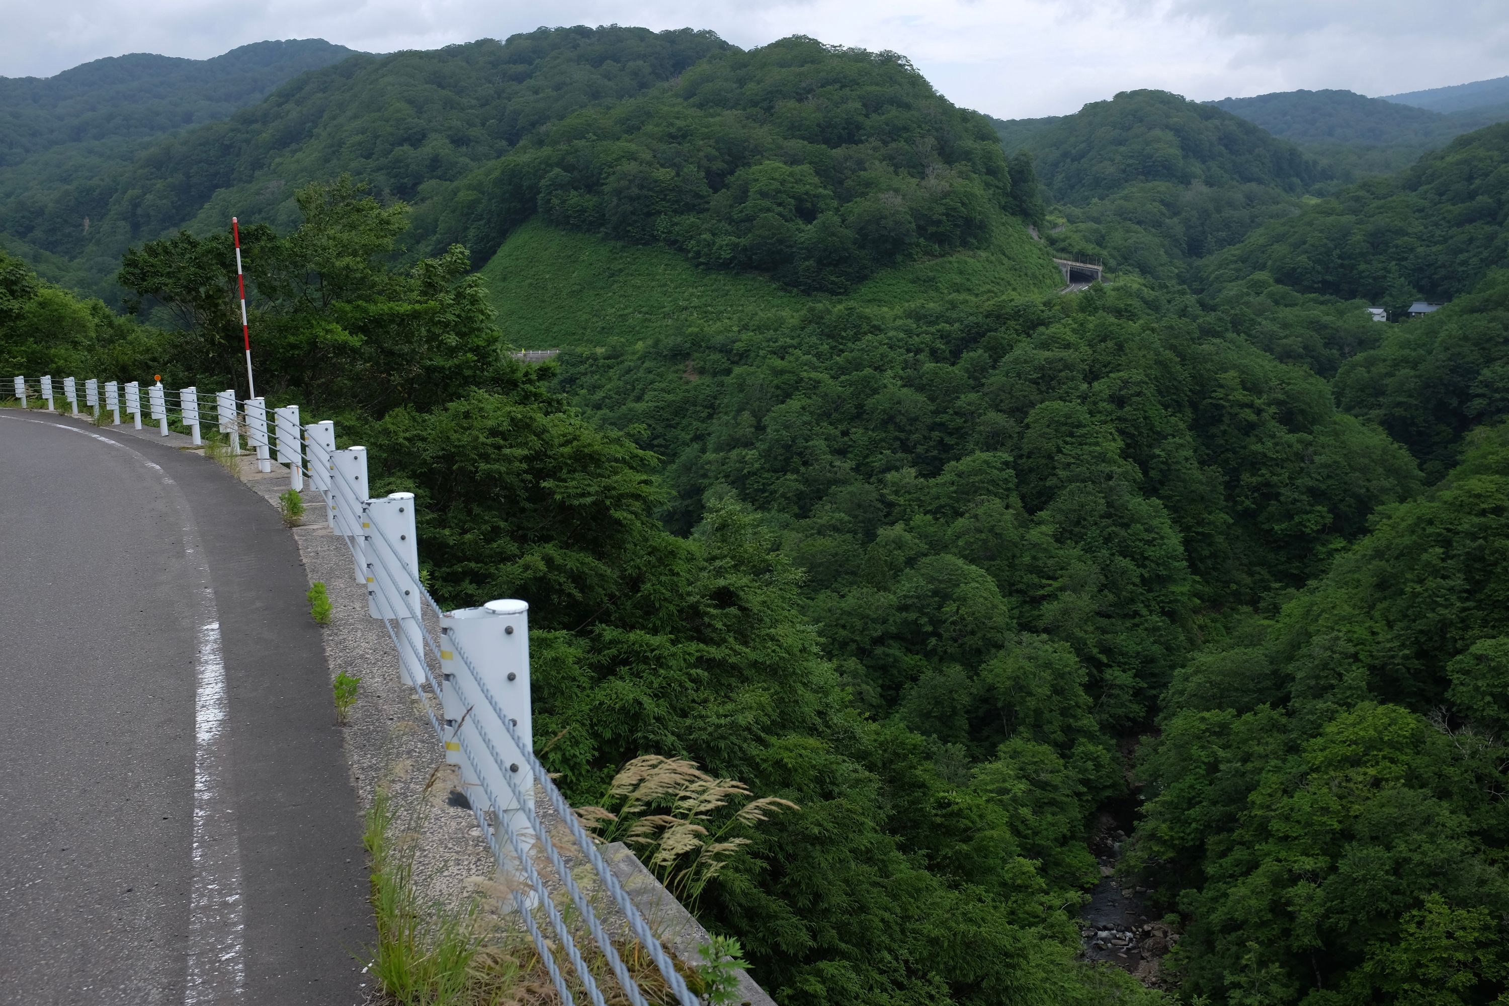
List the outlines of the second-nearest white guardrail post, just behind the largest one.
<svg viewBox="0 0 1509 1006">
<path fill-rule="evenodd" d="M 420 549 L 413 528 L 413 493 L 367 501 L 367 612 L 398 618 L 407 649 L 398 647 L 403 677 L 424 686 L 424 633 L 420 630 Z"/>
</svg>

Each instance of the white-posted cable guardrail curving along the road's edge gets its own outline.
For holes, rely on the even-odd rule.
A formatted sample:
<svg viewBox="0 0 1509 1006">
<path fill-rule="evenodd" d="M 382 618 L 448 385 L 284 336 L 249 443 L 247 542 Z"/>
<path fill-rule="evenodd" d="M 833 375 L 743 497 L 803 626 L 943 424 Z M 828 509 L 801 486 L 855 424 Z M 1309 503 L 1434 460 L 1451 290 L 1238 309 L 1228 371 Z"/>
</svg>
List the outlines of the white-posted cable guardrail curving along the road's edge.
<svg viewBox="0 0 1509 1006">
<path fill-rule="evenodd" d="M 83 382 L 85 406 L 109 410 L 121 424 L 121 409 L 142 428 L 139 382 L 100 385 Z M 63 401 L 78 416 L 78 382 L 63 379 Z M 57 412 L 51 376 L 15 379 L 15 397 L 27 407 L 35 397 Z M 177 401 L 177 409 L 172 409 Z M 258 469 L 272 472 L 273 459 L 287 465 L 290 486 L 303 489 L 305 478 L 324 501 L 326 520 L 352 554 L 356 582 L 365 587 L 368 614 L 388 629 L 398 652 L 400 673 L 413 688 L 435 730 L 445 760 L 456 765 L 471 799 L 477 825 L 492 849 L 499 870 L 513 878 L 513 909 L 534 943 L 561 1003 L 575 1006 L 570 983 L 540 928 L 545 916 L 555 943 L 576 973 L 576 985 L 593 1006 L 605 1006 L 602 988 L 581 955 L 579 929 L 566 923 L 551 899 L 545 878 L 534 864 L 543 855 L 581 919 L 587 937 L 602 953 L 623 995 L 632 1006 L 647 1006 L 644 992 L 629 973 L 592 900 L 582 893 L 560 851 L 536 813 L 536 792 L 543 793 L 579 846 L 596 881 L 622 912 L 634 940 L 653 961 L 681 1006 L 697 1006 L 685 979 L 650 931 L 617 876 L 582 828 L 572 807 L 534 756 L 530 704 L 528 605 L 522 600 L 492 600 L 480 608 L 442 611 L 420 579 L 420 551 L 413 493 L 371 498 L 367 478 L 367 448 L 335 446 L 335 424 L 300 424 L 299 406 L 273 410 L 261 398 L 237 401 L 234 391 L 205 394 L 196 388 L 167 389 L 161 382 L 146 388 L 146 415 L 169 434 L 169 412 L 202 442 L 201 424 L 228 436 L 240 451 L 241 437 L 255 449 Z M 439 639 L 427 618 L 433 617 Z"/>
</svg>

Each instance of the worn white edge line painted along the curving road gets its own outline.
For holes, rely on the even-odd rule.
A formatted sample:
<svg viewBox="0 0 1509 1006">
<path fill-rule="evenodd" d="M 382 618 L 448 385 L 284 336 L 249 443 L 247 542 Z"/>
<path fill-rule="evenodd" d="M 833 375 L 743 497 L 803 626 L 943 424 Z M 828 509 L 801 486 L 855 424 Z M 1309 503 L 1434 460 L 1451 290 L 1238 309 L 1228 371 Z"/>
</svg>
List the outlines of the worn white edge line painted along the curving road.
<svg viewBox="0 0 1509 1006">
<path fill-rule="evenodd" d="M 163 472 L 137 451 L 107 436 L 63 422 L 30 416 L 0 416 L 81 433 L 118 446 L 146 468 Z M 195 633 L 195 766 L 193 766 L 193 894 L 189 905 L 189 973 L 184 1006 L 240 1000 L 246 986 L 246 949 L 241 902 L 241 846 L 235 834 L 229 798 L 231 756 L 223 742 L 226 718 L 225 655 L 220 649 L 220 615 L 216 606 L 210 566 L 199 549 L 199 532 L 177 483 L 174 505 L 183 517 L 183 547 L 193 578 L 198 579 L 199 611 Z"/>
</svg>

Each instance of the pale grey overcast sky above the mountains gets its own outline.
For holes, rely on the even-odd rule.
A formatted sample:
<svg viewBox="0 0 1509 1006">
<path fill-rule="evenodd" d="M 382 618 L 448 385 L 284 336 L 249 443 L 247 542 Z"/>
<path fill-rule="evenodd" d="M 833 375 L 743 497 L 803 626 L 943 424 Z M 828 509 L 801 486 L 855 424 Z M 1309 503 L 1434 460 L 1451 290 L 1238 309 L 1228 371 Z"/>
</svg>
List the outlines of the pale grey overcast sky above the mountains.
<svg viewBox="0 0 1509 1006">
<path fill-rule="evenodd" d="M 608 23 L 890 48 L 952 101 L 1007 119 L 1133 87 L 1384 95 L 1509 74 L 1506 0 L 0 0 L 0 75 L 269 38 L 385 53 Z"/>
</svg>

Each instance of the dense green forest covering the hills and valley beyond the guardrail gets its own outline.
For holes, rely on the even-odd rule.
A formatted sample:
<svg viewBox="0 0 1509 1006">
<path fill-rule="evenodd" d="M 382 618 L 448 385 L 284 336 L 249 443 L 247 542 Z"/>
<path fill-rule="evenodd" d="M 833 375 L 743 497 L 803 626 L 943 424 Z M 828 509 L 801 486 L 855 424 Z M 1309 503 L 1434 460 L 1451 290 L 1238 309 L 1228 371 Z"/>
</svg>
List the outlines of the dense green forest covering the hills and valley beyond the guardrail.
<svg viewBox="0 0 1509 1006">
<path fill-rule="evenodd" d="M 530 600 L 566 790 L 801 807 L 699 905 L 783 1006 L 1504 1001 L 1509 125 L 1358 184 L 1160 92 L 1020 134 L 800 38 L 356 56 L 109 182 L 54 253 L 130 317 L 0 255 L 0 359 L 235 380 L 250 201 L 258 388 Z M 1108 814 L 1162 991 L 1077 961 Z"/>
</svg>

